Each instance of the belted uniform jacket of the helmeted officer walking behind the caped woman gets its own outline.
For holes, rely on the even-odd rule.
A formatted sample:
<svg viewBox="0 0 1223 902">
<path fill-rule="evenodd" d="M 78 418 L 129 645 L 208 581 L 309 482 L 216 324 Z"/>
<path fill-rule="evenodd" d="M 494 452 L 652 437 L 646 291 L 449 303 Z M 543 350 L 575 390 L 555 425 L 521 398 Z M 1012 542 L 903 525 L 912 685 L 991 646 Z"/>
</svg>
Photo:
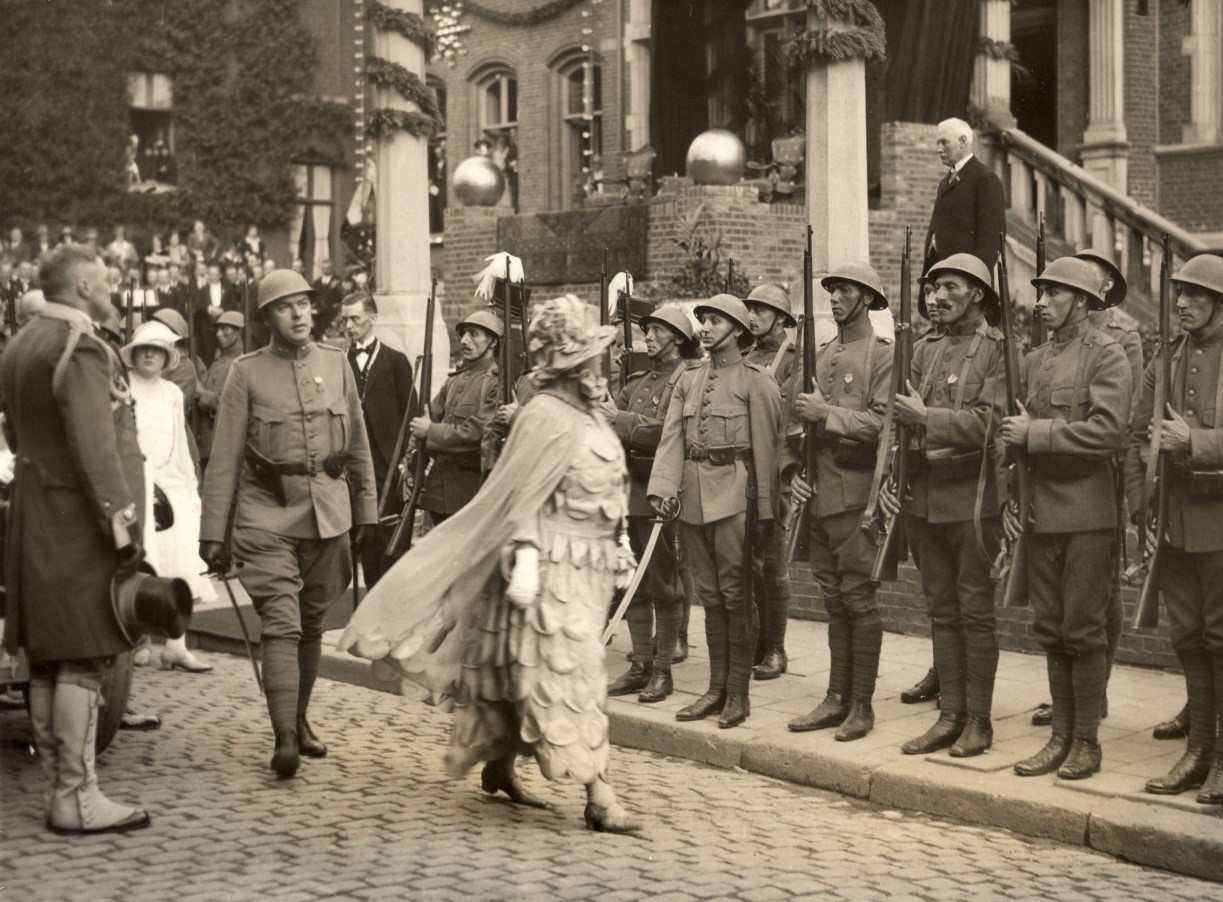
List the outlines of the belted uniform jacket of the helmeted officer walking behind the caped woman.
<svg viewBox="0 0 1223 902">
<path fill-rule="evenodd" d="M 247 442 L 276 463 L 313 469 L 311 475 L 283 477 L 285 506 L 242 466 Z M 333 455 L 342 461 L 339 479 L 324 471 Z M 273 339 L 232 363 L 204 473 L 201 540 L 223 540 L 235 490 L 235 527 L 329 539 L 353 522 L 378 522 L 366 423 L 342 351 L 313 342 L 290 347 Z"/>
</svg>

